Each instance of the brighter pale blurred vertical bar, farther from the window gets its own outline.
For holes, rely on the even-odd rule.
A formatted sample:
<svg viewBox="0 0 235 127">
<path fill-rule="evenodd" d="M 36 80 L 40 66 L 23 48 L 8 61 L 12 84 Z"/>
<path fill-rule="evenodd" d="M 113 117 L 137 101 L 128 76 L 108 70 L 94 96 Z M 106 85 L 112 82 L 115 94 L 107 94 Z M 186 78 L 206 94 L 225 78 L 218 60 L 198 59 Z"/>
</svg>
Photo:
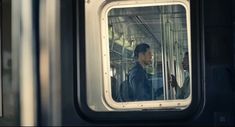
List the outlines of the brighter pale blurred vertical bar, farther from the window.
<svg viewBox="0 0 235 127">
<path fill-rule="evenodd" d="M 32 0 L 21 1 L 21 40 L 19 46 L 21 125 L 36 125 L 36 69 Z"/>
</svg>

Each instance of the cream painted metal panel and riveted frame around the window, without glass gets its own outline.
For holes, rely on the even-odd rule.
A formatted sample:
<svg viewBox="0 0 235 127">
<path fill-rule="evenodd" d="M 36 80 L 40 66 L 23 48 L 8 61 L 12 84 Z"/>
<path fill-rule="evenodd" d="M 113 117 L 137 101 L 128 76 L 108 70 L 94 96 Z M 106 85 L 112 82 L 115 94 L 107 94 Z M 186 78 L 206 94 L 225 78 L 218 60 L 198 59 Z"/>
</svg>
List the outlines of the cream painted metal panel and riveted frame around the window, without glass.
<svg viewBox="0 0 235 127">
<path fill-rule="evenodd" d="M 160 100 L 117 103 L 111 97 L 110 57 L 107 13 L 112 8 L 161 6 L 179 4 L 185 7 L 187 35 L 190 38 L 190 5 L 187 0 L 91 0 L 85 3 L 86 31 L 86 83 L 87 102 L 94 111 L 142 110 L 182 108 L 191 102 L 191 95 L 184 100 Z M 189 53 L 191 52 L 189 48 Z M 189 54 L 190 55 L 190 54 Z M 191 58 L 190 58 L 191 63 Z M 191 73 L 191 67 L 190 67 Z M 191 90 L 190 90 L 191 91 Z"/>
</svg>

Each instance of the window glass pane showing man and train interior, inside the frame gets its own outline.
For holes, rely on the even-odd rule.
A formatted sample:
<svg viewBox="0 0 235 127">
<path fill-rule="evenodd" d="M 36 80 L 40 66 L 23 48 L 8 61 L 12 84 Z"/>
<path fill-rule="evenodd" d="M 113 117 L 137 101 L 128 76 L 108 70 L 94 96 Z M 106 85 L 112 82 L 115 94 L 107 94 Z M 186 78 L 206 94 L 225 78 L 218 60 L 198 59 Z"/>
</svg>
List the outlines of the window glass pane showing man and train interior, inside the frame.
<svg viewBox="0 0 235 127">
<path fill-rule="evenodd" d="M 182 5 L 108 12 L 115 101 L 185 99 L 190 95 L 186 24 Z"/>
</svg>

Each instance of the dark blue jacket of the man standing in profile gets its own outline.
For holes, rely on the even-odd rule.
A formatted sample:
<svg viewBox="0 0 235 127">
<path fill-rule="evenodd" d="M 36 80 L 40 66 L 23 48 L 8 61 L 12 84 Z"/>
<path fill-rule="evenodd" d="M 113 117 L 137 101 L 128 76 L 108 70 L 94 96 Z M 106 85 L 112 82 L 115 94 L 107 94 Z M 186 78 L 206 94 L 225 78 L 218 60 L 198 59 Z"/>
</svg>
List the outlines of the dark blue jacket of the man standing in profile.
<svg viewBox="0 0 235 127">
<path fill-rule="evenodd" d="M 133 101 L 152 99 L 152 87 L 148 83 L 148 76 L 139 62 L 129 72 L 129 83 L 133 93 Z"/>
</svg>

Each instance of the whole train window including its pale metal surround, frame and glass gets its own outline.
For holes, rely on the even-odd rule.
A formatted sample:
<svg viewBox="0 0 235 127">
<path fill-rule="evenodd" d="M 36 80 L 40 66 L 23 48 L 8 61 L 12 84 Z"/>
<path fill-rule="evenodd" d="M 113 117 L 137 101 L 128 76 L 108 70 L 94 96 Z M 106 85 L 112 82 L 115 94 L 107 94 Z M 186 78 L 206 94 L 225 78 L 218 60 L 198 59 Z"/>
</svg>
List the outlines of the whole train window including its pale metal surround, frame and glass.
<svg viewBox="0 0 235 127">
<path fill-rule="evenodd" d="M 86 21 L 92 21 L 86 26 L 87 63 L 97 64 L 87 67 L 88 106 L 94 111 L 182 110 L 189 106 L 188 1 L 110 2 L 97 18 L 88 11 L 92 7 L 86 3 Z M 92 57 L 92 45 L 98 57 Z"/>
</svg>

